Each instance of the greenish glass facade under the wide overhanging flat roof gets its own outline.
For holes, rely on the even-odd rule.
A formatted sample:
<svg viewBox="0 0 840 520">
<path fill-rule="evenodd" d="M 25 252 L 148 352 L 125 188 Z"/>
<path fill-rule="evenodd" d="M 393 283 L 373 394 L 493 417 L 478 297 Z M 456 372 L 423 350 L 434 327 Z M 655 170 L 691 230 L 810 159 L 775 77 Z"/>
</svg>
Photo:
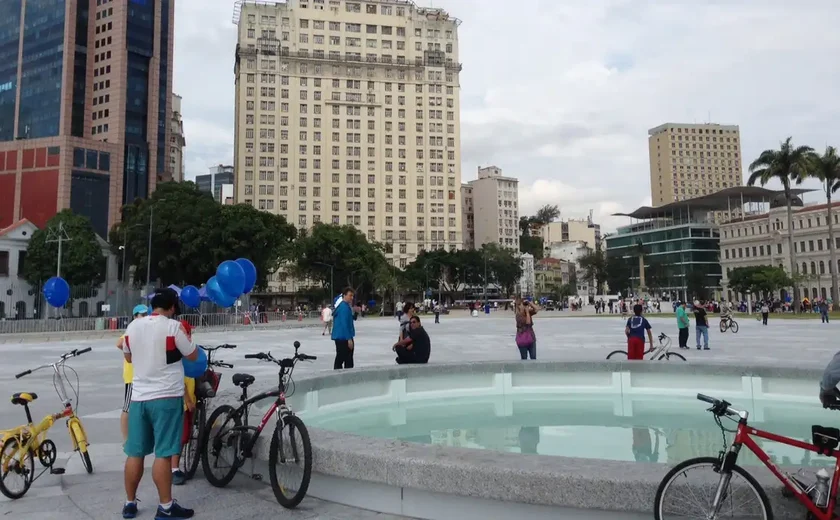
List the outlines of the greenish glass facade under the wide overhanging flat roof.
<svg viewBox="0 0 840 520">
<path fill-rule="evenodd" d="M 644 252 L 646 272 L 652 265 L 660 270 L 656 292 L 682 297 L 686 275 L 696 272 L 705 276 L 706 287 L 720 287 L 720 233 L 714 224 L 646 222 L 619 228 L 616 235 L 607 237 L 607 256 L 627 262 L 632 287 L 639 285 L 640 251 Z"/>
</svg>

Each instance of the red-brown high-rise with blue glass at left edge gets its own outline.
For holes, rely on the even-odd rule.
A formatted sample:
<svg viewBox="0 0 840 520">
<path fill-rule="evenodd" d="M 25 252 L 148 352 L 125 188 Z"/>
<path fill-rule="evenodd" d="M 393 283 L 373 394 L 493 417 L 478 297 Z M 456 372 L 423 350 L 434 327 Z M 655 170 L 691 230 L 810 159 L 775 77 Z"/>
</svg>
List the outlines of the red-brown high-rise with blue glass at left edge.
<svg viewBox="0 0 840 520">
<path fill-rule="evenodd" d="M 0 3 L 0 227 L 98 234 L 168 177 L 172 0 Z"/>
</svg>

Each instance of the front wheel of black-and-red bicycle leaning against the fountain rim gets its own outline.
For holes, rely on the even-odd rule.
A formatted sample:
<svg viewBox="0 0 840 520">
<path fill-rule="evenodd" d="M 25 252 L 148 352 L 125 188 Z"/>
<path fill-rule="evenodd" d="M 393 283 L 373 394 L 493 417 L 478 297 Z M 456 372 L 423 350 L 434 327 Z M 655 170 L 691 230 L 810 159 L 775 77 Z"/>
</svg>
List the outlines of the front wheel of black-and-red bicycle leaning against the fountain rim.
<svg viewBox="0 0 840 520">
<path fill-rule="evenodd" d="M 277 423 L 268 452 L 268 474 L 280 505 L 287 509 L 297 507 L 306 496 L 312 477 L 312 444 L 299 417 L 288 415 Z"/>
</svg>

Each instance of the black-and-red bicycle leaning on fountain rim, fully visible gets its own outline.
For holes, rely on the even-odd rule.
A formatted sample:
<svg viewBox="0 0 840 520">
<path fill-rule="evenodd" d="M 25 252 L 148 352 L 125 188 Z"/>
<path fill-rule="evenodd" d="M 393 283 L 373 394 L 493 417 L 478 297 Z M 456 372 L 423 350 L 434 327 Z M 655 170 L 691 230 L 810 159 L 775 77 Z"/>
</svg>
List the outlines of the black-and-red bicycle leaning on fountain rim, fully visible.
<svg viewBox="0 0 840 520">
<path fill-rule="evenodd" d="M 316 356 L 298 353 L 300 342 L 295 341 L 293 357 L 276 359 L 271 353 L 246 354 L 246 359 L 259 359 L 280 366 L 278 385 L 272 390 L 248 397 L 248 387 L 254 383 L 251 374 L 234 374 L 233 384 L 242 389 L 238 408 L 222 405 L 210 415 L 205 429 L 201 466 L 210 484 L 224 487 L 233 480 L 245 459 L 252 459 L 251 478 L 262 480 L 253 472 L 254 448 L 260 434 L 273 415 L 276 415 L 274 434 L 268 453 L 268 474 L 277 501 L 292 509 L 300 504 L 309 489 L 312 476 L 312 444 L 303 421 L 286 404 L 286 389 L 293 385 L 292 372 L 298 361 L 313 361 Z M 290 394 L 291 395 L 291 394 Z M 264 399 L 276 398 L 260 420 L 259 426 L 248 424 L 251 405 Z M 229 464 L 229 466 L 223 466 Z"/>
</svg>

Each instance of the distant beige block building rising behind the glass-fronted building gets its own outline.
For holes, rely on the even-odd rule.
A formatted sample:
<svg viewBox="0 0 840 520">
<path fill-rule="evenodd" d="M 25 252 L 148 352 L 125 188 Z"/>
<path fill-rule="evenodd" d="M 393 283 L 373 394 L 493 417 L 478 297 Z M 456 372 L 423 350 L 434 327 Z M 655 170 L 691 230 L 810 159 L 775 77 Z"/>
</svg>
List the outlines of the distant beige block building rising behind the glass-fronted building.
<svg viewBox="0 0 840 520">
<path fill-rule="evenodd" d="M 648 136 L 654 206 L 743 186 L 737 125 L 666 123 Z"/>
</svg>

